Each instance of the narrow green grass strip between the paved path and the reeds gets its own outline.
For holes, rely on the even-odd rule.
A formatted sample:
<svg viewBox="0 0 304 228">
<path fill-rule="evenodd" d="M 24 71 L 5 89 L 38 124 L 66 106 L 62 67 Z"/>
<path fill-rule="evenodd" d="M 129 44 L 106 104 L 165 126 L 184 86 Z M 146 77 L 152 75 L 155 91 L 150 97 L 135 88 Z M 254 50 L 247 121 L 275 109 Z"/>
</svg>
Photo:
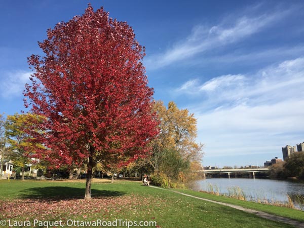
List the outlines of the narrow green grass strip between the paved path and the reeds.
<svg viewBox="0 0 304 228">
<path fill-rule="evenodd" d="M 254 203 L 254 202 L 249 202 L 249 201 L 236 200 L 236 199 L 232 199 L 232 198 L 224 197 L 224 196 L 216 196 L 216 195 L 211 195 L 208 193 L 195 192 L 195 191 L 192 191 L 189 189 L 173 189 L 173 191 L 177 191 L 177 192 L 181 192 L 181 193 L 185 193 L 188 195 L 201 197 L 201 198 L 205 198 L 205 199 L 209 199 L 209 200 L 214 200 L 214 201 L 218 201 L 218 202 L 234 204 L 234 205 L 242 206 L 245 208 L 254 209 L 257 211 L 263 211 L 263 212 L 267 212 L 270 214 L 279 215 L 282 217 L 296 219 L 296 220 L 304 222 L 304 211 L 300 211 L 300 210 L 294 210 L 294 209 L 285 208 L 285 207 L 277 207 L 277 206 L 272 206 L 272 205 L 267 205 L 267 204 Z"/>
</svg>

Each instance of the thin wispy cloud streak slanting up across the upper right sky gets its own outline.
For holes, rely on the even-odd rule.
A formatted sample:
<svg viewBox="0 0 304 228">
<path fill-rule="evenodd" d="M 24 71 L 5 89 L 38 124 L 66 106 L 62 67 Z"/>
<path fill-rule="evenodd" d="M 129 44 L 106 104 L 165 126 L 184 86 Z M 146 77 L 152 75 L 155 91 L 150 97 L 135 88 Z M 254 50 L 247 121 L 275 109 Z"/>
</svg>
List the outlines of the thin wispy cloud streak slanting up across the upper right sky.
<svg viewBox="0 0 304 228">
<path fill-rule="evenodd" d="M 234 22 L 227 23 L 224 20 L 223 23 L 210 27 L 195 26 L 192 33 L 185 40 L 173 45 L 172 48 L 164 53 L 148 57 L 145 65 L 149 69 L 160 68 L 176 61 L 193 57 L 199 53 L 239 42 L 278 22 L 278 20 L 286 17 L 290 11 L 285 10 L 255 17 L 243 16 L 235 19 Z"/>
</svg>

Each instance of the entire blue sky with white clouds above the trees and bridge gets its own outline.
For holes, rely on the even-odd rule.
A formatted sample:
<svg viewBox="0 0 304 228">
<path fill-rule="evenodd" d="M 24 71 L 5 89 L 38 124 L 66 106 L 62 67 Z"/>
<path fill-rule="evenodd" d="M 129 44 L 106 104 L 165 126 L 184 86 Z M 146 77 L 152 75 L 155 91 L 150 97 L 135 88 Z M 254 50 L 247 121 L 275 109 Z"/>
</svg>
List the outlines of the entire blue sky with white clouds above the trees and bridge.
<svg viewBox="0 0 304 228">
<path fill-rule="evenodd" d="M 0 112 L 25 110 L 27 57 L 89 1 L 0 3 Z M 90 1 L 146 47 L 155 99 L 198 119 L 203 165 L 262 165 L 304 141 L 302 1 Z"/>
</svg>

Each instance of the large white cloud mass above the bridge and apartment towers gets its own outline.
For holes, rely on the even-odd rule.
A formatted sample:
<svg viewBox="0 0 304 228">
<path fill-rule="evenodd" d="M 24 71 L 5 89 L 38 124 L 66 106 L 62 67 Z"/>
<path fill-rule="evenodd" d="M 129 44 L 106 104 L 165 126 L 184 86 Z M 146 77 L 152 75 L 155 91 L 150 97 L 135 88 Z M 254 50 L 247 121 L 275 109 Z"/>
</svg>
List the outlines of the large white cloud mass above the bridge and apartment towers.
<svg viewBox="0 0 304 228">
<path fill-rule="evenodd" d="M 303 140 L 303 87 L 304 58 L 297 58 L 253 74 L 189 80 L 175 93 L 197 101 L 188 109 L 198 119 L 206 156 L 240 155 L 246 148 L 281 157 L 281 146 Z"/>
</svg>

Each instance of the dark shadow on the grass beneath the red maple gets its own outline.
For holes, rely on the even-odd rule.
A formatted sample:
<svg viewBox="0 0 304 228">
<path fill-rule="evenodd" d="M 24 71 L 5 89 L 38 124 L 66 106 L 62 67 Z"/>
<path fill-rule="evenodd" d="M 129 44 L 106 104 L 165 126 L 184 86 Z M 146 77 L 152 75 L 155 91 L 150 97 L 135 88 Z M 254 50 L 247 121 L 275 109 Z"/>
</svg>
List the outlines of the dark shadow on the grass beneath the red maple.
<svg viewBox="0 0 304 228">
<path fill-rule="evenodd" d="M 91 197 L 97 199 L 123 195 L 125 195 L 124 192 L 91 189 Z M 40 199 L 47 201 L 84 199 L 85 188 L 65 186 L 33 187 L 24 189 L 20 197 L 22 199 Z"/>
</svg>

